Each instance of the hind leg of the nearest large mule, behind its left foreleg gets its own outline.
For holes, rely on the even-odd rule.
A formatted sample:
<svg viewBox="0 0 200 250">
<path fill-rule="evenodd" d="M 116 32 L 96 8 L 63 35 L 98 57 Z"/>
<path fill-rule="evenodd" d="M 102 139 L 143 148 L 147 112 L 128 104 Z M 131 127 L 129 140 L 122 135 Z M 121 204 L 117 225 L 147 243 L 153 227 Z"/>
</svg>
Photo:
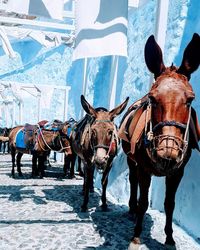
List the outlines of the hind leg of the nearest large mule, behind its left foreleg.
<svg viewBox="0 0 200 250">
<path fill-rule="evenodd" d="M 138 208 L 138 177 L 137 177 L 137 166 L 129 157 L 127 158 L 129 166 L 129 182 L 130 182 L 130 199 L 129 199 L 129 214 L 134 217 L 137 214 Z"/>
</svg>

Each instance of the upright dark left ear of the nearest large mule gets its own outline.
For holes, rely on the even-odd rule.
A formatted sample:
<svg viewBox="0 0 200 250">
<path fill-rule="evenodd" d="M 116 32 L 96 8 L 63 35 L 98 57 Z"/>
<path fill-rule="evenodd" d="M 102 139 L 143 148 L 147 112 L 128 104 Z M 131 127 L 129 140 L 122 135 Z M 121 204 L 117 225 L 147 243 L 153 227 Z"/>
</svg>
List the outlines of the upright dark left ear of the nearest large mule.
<svg viewBox="0 0 200 250">
<path fill-rule="evenodd" d="M 165 65 L 163 63 L 161 48 L 153 35 L 146 42 L 144 58 L 149 71 L 154 74 L 154 78 L 156 79 L 165 70 Z"/>
</svg>

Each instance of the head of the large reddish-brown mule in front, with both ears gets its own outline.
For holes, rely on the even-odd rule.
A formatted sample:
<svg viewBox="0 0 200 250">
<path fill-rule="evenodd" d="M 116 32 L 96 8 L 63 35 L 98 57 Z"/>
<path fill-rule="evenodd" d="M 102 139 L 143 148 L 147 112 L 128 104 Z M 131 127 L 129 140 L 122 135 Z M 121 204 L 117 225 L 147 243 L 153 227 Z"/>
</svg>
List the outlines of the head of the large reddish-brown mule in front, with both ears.
<svg viewBox="0 0 200 250">
<path fill-rule="evenodd" d="M 200 64 L 200 36 L 193 35 L 179 68 L 165 67 L 162 51 L 150 36 L 145 46 L 145 61 L 155 77 L 149 92 L 153 152 L 158 161 L 180 162 L 189 140 L 191 102 L 195 97 L 189 79 Z"/>
</svg>

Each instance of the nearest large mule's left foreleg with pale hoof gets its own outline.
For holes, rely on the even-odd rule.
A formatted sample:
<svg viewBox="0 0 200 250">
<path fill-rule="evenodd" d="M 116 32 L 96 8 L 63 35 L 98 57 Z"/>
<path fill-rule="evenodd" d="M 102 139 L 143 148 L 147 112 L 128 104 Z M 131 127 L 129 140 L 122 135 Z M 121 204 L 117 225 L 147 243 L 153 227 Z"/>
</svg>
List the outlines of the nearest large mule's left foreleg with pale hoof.
<svg viewBox="0 0 200 250">
<path fill-rule="evenodd" d="M 142 232 L 142 222 L 144 215 L 147 211 L 149 202 L 148 202 L 148 192 L 149 186 L 151 183 L 151 176 L 145 173 L 142 170 L 142 167 L 138 166 L 138 181 L 139 181 L 139 188 L 140 188 L 140 197 L 138 201 L 138 211 L 137 211 L 137 219 L 136 219 L 136 226 L 134 229 L 134 237 L 132 239 L 133 243 L 140 243 L 140 234 Z"/>
</svg>

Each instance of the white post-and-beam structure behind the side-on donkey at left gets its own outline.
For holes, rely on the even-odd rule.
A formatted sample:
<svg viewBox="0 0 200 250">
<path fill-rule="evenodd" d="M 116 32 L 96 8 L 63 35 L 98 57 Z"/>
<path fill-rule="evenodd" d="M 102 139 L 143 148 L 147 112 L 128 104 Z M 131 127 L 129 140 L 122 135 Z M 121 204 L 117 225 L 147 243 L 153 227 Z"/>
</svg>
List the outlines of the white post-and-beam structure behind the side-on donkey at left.
<svg viewBox="0 0 200 250">
<path fill-rule="evenodd" d="M 61 99 L 60 100 L 60 107 L 61 110 L 59 111 L 59 119 L 66 121 L 67 120 L 67 115 L 68 115 L 68 96 L 69 96 L 69 91 L 71 89 L 70 86 L 58 86 L 56 85 L 47 85 L 47 84 L 31 84 L 31 83 L 19 83 L 19 82 L 11 82 L 11 81 L 0 81 L 0 86 L 1 88 L 1 93 L 4 94 L 4 89 L 9 88 L 10 93 L 12 93 L 12 98 L 11 96 L 7 96 L 6 98 L 2 98 L 0 100 L 0 103 L 2 105 L 0 109 L 0 117 L 4 117 L 3 119 L 5 120 L 4 123 L 6 126 L 16 126 L 19 124 L 24 124 L 26 122 L 28 123 L 37 123 L 40 120 L 46 120 L 47 117 L 44 117 L 43 114 L 43 108 L 44 104 L 42 105 L 42 100 L 46 100 L 49 102 L 50 100 L 47 100 L 48 97 L 46 95 L 45 90 L 48 89 L 48 92 L 52 92 L 54 90 L 60 90 L 62 91 Z M 0 95 L 1 97 L 1 95 Z M 30 113 L 31 113 L 31 107 L 30 107 L 30 100 L 35 103 L 35 116 L 31 117 L 30 119 Z M 9 101 L 9 102 L 8 102 Z M 28 110 L 29 112 L 27 113 L 27 108 L 26 106 L 29 105 Z M 9 111 L 12 110 L 10 113 Z M 46 110 L 49 110 L 49 116 L 55 115 L 51 112 L 51 104 L 49 104 L 49 109 L 48 105 L 45 106 Z M 2 112 L 2 115 L 1 115 Z M 57 114 L 58 115 L 58 114 Z M 10 117 L 8 119 L 8 117 Z M 58 117 L 50 117 L 51 119 L 55 119 Z"/>
</svg>

